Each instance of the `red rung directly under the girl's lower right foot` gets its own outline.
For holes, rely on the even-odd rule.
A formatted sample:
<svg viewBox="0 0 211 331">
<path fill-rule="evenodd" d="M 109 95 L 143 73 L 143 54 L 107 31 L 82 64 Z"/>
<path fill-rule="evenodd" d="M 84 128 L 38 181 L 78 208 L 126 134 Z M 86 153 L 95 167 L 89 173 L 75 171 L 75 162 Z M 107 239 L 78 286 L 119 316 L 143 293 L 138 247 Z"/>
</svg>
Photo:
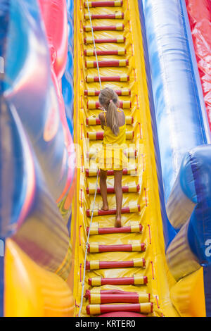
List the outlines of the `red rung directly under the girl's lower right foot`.
<svg viewBox="0 0 211 331">
<path fill-rule="evenodd" d="M 87 235 L 88 232 L 90 235 L 109 235 L 112 233 L 131 233 L 131 232 L 142 232 L 143 226 L 139 224 L 139 222 L 131 222 L 130 226 L 124 227 L 98 227 L 97 222 L 93 222 L 91 224 L 91 229 L 89 232 L 89 227 L 87 227 Z"/>
</svg>

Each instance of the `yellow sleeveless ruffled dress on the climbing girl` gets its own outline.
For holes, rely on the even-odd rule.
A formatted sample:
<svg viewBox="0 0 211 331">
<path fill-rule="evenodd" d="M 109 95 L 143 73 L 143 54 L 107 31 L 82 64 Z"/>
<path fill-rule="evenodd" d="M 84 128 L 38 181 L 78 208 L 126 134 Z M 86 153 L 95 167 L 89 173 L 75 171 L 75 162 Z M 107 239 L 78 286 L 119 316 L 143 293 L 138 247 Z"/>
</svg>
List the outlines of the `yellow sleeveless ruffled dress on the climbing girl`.
<svg viewBox="0 0 211 331">
<path fill-rule="evenodd" d="M 119 109 L 117 111 L 120 112 Z M 106 113 L 105 121 L 106 121 Z M 122 170 L 127 168 L 128 159 L 124 155 L 126 145 L 126 125 L 119 127 L 120 133 L 115 136 L 110 127 L 104 127 L 104 137 L 102 148 L 98 151 L 96 163 L 98 168 L 102 170 Z"/>
</svg>

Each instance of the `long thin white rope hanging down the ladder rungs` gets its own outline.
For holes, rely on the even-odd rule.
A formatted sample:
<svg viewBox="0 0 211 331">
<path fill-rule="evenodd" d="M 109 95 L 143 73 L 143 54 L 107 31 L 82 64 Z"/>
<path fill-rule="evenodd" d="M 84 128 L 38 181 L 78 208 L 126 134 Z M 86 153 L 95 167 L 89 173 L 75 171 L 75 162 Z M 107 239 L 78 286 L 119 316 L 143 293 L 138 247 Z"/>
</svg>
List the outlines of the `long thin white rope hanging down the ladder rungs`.
<svg viewBox="0 0 211 331">
<path fill-rule="evenodd" d="M 91 13 L 90 13 L 90 10 L 89 10 L 89 1 L 88 0 L 87 0 L 87 8 L 88 8 L 88 11 L 89 11 L 89 21 L 90 21 L 90 25 L 91 25 L 91 35 L 92 35 L 93 44 L 94 44 L 94 52 L 95 52 L 95 57 L 96 57 L 96 65 L 97 65 L 97 69 L 98 69 L 99 83 L 100 83 L 100 87 L 102 89 L 101 75 L 100 75 L 100 70 L 99 70 L 99 65 L 98 65 L 98 56 L 97 56 L 97 53 L 96 53 L 96 44 L 95 44 L 95 41 L 94 41 L 94 31 L 93 31 L 93 25 L 92 25 L 92 22 L 91 22 Z M 88 251 L 88 247 L 89 247 L 89 236 L 90 236 L 92 219 L 93 219 L 93 215 L 94 215 L 94 206 L 95 206 L 95 200 L 96 200 L 96 192 L 97 192 L 97 188 L 98 188 L 98 176 L 99 176 L 99 170 L 97 170 L 96 189 L 95 189 L 95 192 L 94 192 L 94 204 L 93 204 L 93 208 L 91 210 L 91 220 L 90 220 L 90 223 L 89 223 L 89 232 L 88 232 L 88 235 L 87 235 L 86 251 L 85 251 L 85 256 L 84 256 L 84 273 L 83 273 L 83 280 L 82 280 L 81 304 L 80 304 L 79 313 L 78 313 L 78 316 L 79 317 L 80 317 L 80 315 L 82 313 L 82 306 L 83 306 L 83 300 L 84 300 L 84 285 L 85 285 L 85 277 L 86 277 L 87 251 Z"/>
</svg>

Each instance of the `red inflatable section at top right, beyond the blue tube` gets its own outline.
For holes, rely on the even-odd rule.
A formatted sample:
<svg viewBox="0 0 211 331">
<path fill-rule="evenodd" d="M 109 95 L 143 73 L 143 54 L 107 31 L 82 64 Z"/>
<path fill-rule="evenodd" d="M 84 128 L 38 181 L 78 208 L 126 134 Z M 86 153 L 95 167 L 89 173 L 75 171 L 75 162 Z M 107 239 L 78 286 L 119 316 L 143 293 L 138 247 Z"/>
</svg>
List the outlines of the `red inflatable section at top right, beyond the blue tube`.
<svg viewBox="0 0 211 331">
<path fill-rule="evenodd" d="M 211 1 L 186 0 L 186 6 L 211 130 Z"/>
</svg>

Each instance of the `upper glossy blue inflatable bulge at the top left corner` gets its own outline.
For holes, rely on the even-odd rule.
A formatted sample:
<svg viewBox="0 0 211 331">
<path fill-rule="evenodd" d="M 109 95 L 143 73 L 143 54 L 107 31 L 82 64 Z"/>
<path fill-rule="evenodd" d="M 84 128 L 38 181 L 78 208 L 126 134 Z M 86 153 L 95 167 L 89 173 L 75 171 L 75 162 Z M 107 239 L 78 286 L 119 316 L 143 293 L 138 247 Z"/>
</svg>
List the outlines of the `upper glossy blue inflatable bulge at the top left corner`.
<svg viewBox="0 0 211 331">
<path fill-rule="evenodd" d="M 7 2 L 4 96 L 15 105 L 51 194 L 58 199 L 68 180 L 68 151 L 39 8 L 37 1 Z"/>
</svg>

